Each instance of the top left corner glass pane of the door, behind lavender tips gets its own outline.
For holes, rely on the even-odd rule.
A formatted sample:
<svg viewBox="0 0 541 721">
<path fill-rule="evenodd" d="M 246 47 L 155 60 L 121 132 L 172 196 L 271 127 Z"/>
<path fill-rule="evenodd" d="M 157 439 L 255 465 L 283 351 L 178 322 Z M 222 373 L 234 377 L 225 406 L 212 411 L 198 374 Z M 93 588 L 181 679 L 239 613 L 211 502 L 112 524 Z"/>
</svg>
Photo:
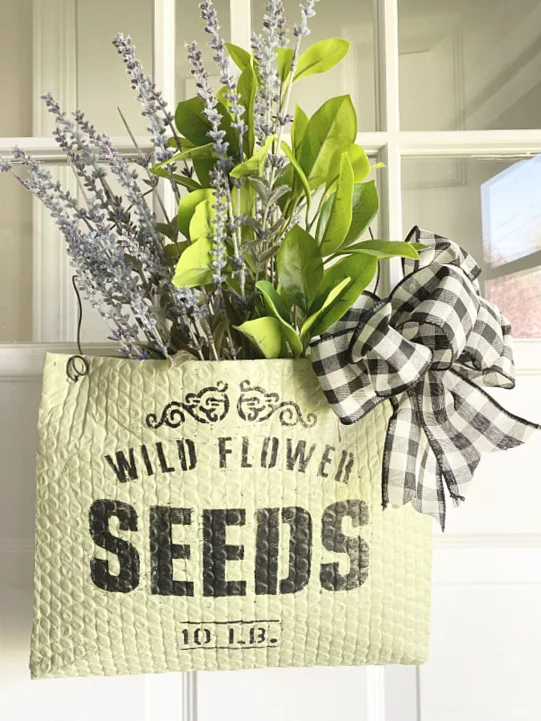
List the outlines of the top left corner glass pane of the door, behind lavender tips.
<svg viewBox="0 0 541 721">
<path fill-rule="evenodd" d="M 76 10 L 75 10 L 76 7 Z M 152 74 L 152 0 L 0 2 L 0 137 L 48 136 L 40 100 L 51 91 L 64 109 L 79 106 L 110 135 L 126 135 L 120 107 L 136 135 L 146 134 L 130 81 L 111 41 L 131 35 Z"/>
</svg>

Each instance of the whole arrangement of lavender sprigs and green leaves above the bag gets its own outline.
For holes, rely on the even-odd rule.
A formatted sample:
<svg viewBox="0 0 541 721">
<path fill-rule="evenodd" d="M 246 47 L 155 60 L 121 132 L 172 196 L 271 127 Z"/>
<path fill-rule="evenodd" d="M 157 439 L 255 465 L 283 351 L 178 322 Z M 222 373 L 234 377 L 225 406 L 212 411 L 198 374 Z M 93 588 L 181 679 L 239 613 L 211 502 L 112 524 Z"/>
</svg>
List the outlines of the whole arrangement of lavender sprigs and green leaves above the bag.
<svg viewBox="0 0 541 721">
<path fill-rule="evenodd" d="M 127 356 L 303 356 L 370 284 L 379 261 L 418 257 L 415 244 L 359 241 L 379 207 L 367 181 L 378 165 L 355 142 L 351 98 L 331 98 L 312 117 L 298 105 L 290 113 L 293 85 L 348 52 L 336 38 L 302 49 L 317 2 L 300 5 L 290 39 L 282 0 L 269 0 L 251 52 L 225 43 L 211 0 L 201 2 L 222 87 L 213 92 L 200 49 L 187 44 L 197 96 L 174 116 L 119 34 L 114 45 L 153 144 L 146 154 L 134 139 L 139 172 L 81 111 L 68 116 L 50 94 L 54 137 L 79 198 L 20 148 L 2 161 L 50 211 L 79 288 Z"/>
</svg>

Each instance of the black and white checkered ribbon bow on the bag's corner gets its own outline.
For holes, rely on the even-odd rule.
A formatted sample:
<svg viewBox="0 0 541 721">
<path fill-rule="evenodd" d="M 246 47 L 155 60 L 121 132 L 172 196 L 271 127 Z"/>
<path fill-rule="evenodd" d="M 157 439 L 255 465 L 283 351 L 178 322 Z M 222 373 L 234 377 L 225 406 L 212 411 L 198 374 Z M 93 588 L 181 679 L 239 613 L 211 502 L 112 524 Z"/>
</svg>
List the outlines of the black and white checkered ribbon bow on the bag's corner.
<svg viewBox="0 0 541 721">
<path fill-rule="evenodd" d="M 444 482 L 456 502 L 483 451 L 518 446 L 539 428 L 480 385 L 513 388 L 511 328 L 479 295 L 477 263 L 447 238 L 414 228 L 427 246 L 405 260 L 387 299 L 363 293 L 311 347 L 313 368 L 342 423 L 388 399 L 383 505 L 413 504 L 445 527 Z"/>
</svg>

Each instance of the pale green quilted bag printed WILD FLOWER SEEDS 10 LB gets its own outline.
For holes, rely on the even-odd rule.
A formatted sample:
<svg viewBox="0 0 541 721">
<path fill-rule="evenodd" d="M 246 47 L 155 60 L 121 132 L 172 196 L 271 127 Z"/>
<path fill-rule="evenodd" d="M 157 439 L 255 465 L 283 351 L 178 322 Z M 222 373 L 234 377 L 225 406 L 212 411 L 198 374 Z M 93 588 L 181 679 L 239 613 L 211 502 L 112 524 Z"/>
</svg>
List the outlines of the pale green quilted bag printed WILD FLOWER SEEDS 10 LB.
<svg viewBox="0 0 541 721">
<path fill-rule="evenodd" d="M 381 508 L 390 406 L 307 360 L 48 355 L 33 678 L 426 660 L 431 521 Z"/>
</svg>

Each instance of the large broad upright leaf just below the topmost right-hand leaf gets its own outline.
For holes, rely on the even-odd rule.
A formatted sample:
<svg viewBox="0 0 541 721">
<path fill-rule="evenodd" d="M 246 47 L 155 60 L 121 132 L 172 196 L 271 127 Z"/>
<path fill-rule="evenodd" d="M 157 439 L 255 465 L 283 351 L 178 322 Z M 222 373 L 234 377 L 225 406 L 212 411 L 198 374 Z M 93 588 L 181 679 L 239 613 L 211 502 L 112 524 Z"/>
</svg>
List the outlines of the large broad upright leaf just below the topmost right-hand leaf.
<svg viewBox="0 0 541 721">
<path fill-rule="evenodd" d="M 335 153 L 343 153 L 357 136 L 357 114 L 349 95 L 331 98 L 308 121 L 300 149 L 300 165 L 312 189 L 327 182 Z"/>
</svg>

